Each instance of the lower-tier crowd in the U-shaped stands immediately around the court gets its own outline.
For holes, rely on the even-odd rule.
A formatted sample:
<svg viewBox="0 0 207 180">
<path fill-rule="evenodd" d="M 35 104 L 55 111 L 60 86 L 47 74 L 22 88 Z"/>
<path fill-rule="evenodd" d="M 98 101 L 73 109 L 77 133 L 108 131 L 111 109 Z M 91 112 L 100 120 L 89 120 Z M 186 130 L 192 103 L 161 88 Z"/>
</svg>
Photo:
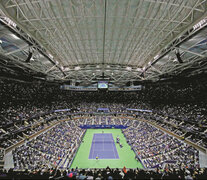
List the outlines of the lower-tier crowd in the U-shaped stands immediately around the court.
<svg viewBox="0 0 207 180">
<path fill-rule="evenodd" d="M 104 116 L 62 122 L 39 135 L 15 149 L 15 167 L 17 169 L 43 168 L 43 165 L 49 162 L 49 164 L 57 163 L 60 168 L 67 168 L 84 132 L 79 126 L 108 125 L 109 122 L 111 125 L 129 126 L 123 130 L 123 133 L 146 168 L 163 167 L 169 163 L 174 168 L 199 167 L 198 151 L 183 141 L 143 121 Z M 32 157 L 36 159 L 31 160 Z M 57 159 L 58 162 L 56 162 Z"/>
</svg>

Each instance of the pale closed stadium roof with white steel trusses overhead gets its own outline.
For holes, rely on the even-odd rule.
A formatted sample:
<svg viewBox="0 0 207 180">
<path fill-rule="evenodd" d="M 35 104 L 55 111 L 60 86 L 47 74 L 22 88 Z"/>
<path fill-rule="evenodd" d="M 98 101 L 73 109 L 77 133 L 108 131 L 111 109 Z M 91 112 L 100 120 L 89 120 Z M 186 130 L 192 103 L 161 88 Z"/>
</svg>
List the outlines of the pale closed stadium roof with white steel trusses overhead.
<svg viewBox="0 0 207 180">
<path fill-rule="evenodd" d="M 206 71 L 207 0 L 1 0 L 0 22 L 0 66 L 48 79 L 123 85 Z"/>
</svg>

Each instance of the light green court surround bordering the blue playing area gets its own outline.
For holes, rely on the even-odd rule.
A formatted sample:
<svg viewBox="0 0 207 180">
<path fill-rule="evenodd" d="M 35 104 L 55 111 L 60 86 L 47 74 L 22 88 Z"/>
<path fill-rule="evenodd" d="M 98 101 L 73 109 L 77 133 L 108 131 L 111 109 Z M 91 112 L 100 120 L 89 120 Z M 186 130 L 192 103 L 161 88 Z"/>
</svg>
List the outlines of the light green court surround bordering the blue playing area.
<svg viewBox="0 0 207 180">
<path fill-rule="evenodd" d="M 123 148 L 120 148 L 119 144 L 115 143 L 119 159 L 88 159 L 93 134 L 102 133 L 102 131 L 104 133 L 112 133 L 114 141 L 119 135 L 120 142 L 123 144 Z M 135 159 L 135 153 L 127 144 L 126 138 L 120 129 L 88 129 L 70 168 L 106 168 L 107 166 L 110 168 L 123 168 L 124 166 L 126 168 L 143 168 L 142 164 Z"/>
</svg>

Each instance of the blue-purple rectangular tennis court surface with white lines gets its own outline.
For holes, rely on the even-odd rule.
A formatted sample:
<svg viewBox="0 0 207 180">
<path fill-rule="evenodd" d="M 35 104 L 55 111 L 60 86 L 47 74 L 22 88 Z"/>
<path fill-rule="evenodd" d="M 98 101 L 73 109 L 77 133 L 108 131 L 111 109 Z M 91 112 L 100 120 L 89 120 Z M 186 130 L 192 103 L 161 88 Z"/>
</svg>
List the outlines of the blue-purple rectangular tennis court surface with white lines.
<svg viewBox="0 0 207 180">
<path fill-rule="evenodd" d="M 119 159 L 111 133 L 94 134 L 89 159 Z"/>
</svg>

